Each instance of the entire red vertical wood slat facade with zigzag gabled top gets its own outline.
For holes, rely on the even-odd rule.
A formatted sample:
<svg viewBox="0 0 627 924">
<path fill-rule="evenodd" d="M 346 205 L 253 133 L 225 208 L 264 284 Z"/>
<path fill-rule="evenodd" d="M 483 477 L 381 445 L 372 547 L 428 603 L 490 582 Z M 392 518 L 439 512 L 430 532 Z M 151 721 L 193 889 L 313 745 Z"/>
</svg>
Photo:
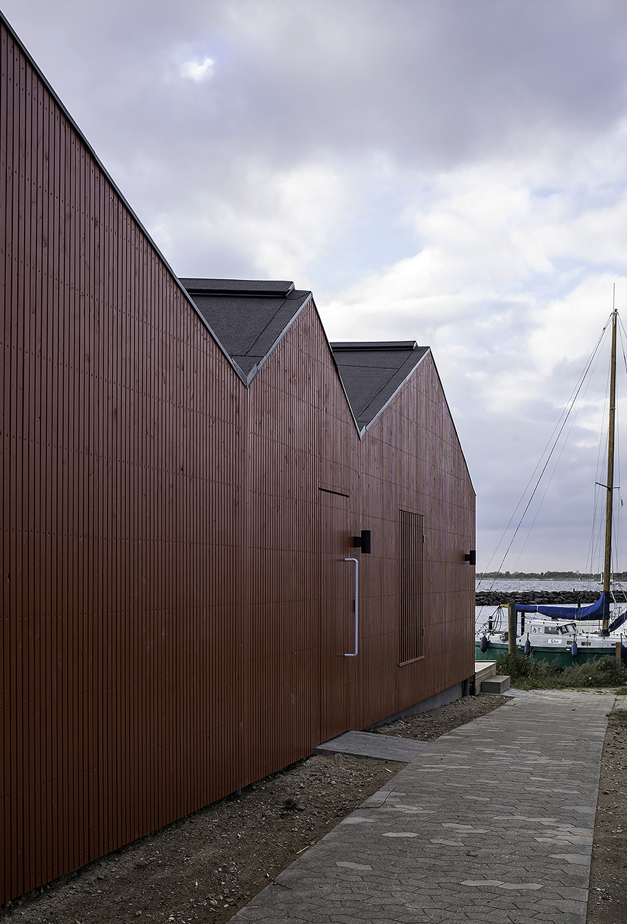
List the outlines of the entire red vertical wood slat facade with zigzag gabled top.
<svg viewBox="0 0 627 924">
<path fill-rule="evenodd" d="M 310 303 L 247 389 L 0 40 L 4 902 L 469 676 L 475 499 L 430 355 L 360 441 Z"/>
</svg>

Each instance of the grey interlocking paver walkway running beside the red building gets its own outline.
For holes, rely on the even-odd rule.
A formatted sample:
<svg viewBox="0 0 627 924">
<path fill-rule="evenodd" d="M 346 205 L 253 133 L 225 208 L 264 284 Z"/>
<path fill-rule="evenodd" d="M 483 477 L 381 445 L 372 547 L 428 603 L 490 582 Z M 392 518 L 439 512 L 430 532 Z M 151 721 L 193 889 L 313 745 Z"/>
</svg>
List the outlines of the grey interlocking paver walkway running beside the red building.
<svg viewBox="0 0 627 924">
<path fill-rule="evenodd" d="M 512 692 L 429 742 L 233 920 L 585 924 L 614 697 Z"/>
</svg>

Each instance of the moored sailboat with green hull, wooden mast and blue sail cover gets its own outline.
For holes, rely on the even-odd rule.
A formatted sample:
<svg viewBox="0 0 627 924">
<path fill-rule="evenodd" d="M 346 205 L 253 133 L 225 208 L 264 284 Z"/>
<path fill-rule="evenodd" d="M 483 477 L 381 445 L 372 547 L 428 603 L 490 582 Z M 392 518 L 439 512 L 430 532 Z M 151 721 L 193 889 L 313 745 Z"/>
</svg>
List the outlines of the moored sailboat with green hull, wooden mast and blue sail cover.
<svg viewBox="0 0 627 924">
<path fill-rule="evenodd" d="M 610 619 L 612 506 L 614 497 L 614 429 L 616 419 L 616 329 L 618 311 L 611 314 L 611 359 L 609 368 L 608 480 L 606 488 L 605 555 L 603 590 L 590 606 L 554 606 L 516 603 L 516 650 L 536 660 L 555 661 L 558 666 L 582 663 L 591 658 L 616 654 L 627 656 L 627 610 Z M 597 621 L 599 628 L 591 630 Z M 492 621 L 491 621 L 492 622 Z M 493 625 L 493 623 L 492 623 Z M 506 624 L 507 625 L 507 624 Z M 507 632 L 500 631 L 500 621 L 476 636 L 476 661 L 493 661 L 509 651 Z"/>
</svg>

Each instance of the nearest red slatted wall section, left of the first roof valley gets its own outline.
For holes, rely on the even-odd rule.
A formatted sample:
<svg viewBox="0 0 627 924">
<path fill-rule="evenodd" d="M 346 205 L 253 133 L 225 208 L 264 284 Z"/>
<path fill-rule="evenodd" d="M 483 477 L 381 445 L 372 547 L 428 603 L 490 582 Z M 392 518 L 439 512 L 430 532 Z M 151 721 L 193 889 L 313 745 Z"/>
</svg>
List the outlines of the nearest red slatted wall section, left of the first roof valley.
<svg viewBox="0 0 627 924">
<path fill-rule="evenodd" d="M 4 901 L 230 791 L 243 386 L 1 33 Z"/>
</svg>

